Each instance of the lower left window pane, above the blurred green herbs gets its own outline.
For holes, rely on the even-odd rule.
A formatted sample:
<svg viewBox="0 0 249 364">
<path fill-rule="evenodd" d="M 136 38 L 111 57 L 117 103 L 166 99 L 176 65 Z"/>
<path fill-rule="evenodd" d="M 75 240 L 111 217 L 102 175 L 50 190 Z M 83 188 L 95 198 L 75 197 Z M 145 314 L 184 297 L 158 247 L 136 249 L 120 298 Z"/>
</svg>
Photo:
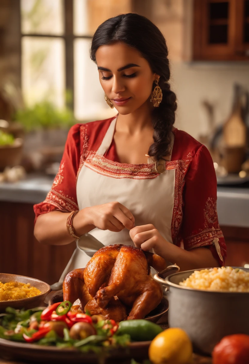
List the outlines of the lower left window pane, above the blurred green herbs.
<svg viewBox="0 0 249 364">
<path fill-rule="evenodd" d="M 64 106 L 64 40 L 46 37 L 22 38 L 22 90 L 28 105 L 48 100 Z"/>
</svg>

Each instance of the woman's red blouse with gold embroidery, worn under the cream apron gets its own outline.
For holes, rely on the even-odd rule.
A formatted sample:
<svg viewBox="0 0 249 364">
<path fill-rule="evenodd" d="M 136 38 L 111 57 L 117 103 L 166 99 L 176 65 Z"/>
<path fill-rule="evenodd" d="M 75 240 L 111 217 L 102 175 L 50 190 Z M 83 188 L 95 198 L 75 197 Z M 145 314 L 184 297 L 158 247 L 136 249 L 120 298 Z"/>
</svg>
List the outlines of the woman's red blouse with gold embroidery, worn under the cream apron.
<svg viewBox="0 0 249 364">
<path fill-rule="evenodd" d="M 112 119 L 71 127 L 51 190 L 43 202 L 34 205 L 36 218 L 55 210 L 78 210 L 77 175 L 88 152 L 98 150 Z M 173 209 L 172 241 L 177 246 L 183 242 L 186 250 L 206 246 L 224 265 L 226 244 L 217 217 L 217 181 L 212 158 L 208 149 L 186 132 L 175 129 L 173 133 L 171 161 L 179 161 L 181 173 L 175 185 L 178 201 Z M 114 140 L 104 157 L 118 162 Z"/>
</svg>

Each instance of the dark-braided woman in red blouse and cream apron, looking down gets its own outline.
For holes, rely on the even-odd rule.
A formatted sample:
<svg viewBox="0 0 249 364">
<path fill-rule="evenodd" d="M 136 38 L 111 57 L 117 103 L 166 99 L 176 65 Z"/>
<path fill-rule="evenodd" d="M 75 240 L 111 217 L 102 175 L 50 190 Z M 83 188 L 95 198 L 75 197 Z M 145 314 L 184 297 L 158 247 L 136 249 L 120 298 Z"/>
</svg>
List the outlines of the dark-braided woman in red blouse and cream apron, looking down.
<svg viewBox="0 0 249 364">
<path fill-rule="evenodd" d="M 34 206 L 37 240 L 64 245 L 90 232 L 104 245 L 154 249 L 181 270 L 224 265 L 212 158 L 173 127 L 167 55 L 162 33 L 143 16 L 98 27 L 91 59 L 118 115 L 71 128 L 52 189 Z M 89 260 L 75 254 L 70 269 Z"/>
</svg>

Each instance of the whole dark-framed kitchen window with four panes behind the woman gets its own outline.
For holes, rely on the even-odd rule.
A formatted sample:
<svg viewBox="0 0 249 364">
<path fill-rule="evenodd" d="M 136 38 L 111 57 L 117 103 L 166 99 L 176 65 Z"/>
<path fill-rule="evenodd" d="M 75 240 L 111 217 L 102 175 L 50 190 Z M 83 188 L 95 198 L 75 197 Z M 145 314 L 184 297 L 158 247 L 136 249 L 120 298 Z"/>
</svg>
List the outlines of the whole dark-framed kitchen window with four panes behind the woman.
<svg viewBox="0 0 249 364">
<path fill-rule="evenodd" d="M 131 0 L 20 0 L 21 80 L 24 101 L 48 100 L 61 108 L 66 91 L 76 119 L 115 114 L 104 101 L 91 37 L 104 20 L 131 11 Z"/>
</svg>

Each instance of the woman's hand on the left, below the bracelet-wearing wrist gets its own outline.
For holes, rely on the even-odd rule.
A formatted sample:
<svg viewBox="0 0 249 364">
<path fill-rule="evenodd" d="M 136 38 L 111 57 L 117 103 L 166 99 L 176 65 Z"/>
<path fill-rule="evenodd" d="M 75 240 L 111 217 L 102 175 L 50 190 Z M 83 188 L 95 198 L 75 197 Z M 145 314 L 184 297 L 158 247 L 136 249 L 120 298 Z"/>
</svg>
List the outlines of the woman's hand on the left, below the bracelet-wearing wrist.
<svg viewBox="0 0 249 364">
<path fill-rule="evenodd" d="M 86 221 L 89 225 L 94 225 L 101 230 L 120 232 L 134 227 L 135 219 L 130 210 L 119 202 L 109 202 L 104 205 L 86 207 L 75 215 L 73 226 L 77 228 L 81 221 Z"/>
</svg>

